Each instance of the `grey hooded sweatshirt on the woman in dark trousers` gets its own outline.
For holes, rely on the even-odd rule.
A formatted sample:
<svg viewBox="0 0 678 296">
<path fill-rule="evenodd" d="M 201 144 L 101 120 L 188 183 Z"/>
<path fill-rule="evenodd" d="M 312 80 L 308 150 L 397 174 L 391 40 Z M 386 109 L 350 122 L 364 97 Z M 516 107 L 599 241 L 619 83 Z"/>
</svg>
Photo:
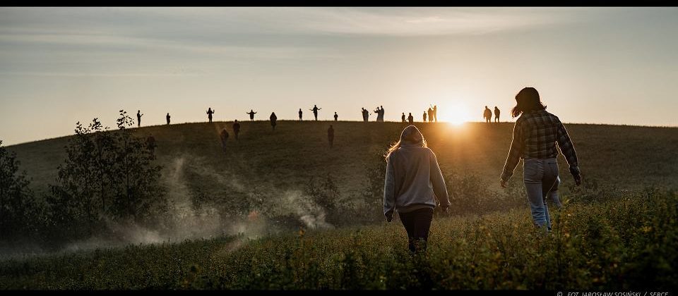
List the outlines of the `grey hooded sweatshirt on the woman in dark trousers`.
<svg viewBox="0 0 678 296">
<path fill-rule="evenodd" d="M 418 132 L 418 130 L 417 130 Z M 400 142 L 400 148 L 386 160 L 383 187 L 383 214 L 393 218 L 393 211 L 407 213 L 436 207 L 438 197 L 445 207 L 450 200 L 436 154 L 421 143 Z"/>
</svg>

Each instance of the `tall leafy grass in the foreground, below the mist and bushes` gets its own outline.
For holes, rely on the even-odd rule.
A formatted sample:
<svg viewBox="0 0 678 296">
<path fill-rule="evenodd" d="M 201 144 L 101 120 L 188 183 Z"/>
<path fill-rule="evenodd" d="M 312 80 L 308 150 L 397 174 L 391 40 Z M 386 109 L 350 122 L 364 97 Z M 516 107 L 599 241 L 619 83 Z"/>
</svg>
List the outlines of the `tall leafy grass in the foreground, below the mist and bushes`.
<svg viewBox="0 0 678 296">
<path fill-rule="evenodd" d="M 413 256 L 395 221 L 12 259 L 0 263 L 0 288 L 678 288 L 678 194 L 602 195 L 552 211 L 550 233 L 528 209 L 436 216 L 427 252 Z"/>
</svg>

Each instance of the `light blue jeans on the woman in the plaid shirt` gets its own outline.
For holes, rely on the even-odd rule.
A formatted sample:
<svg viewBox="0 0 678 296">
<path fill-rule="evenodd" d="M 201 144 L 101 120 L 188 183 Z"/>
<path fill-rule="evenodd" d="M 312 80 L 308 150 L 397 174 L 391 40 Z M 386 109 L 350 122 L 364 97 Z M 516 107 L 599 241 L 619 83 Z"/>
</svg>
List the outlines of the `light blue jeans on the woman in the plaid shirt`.
<svg viewBox="0 0 678 296">
<path fill-rule="evenodd" d="M 551 230 L 551 218 L 546 199 L 550 197 L 558 207 L 560 206 L 558 198 L 560 177 L 557 159 L 523 159 L 523 182 L 525 182 L 525 191 L 528 192 L 535 226 L 546 226 L 548 230 Z"/>
</svg>

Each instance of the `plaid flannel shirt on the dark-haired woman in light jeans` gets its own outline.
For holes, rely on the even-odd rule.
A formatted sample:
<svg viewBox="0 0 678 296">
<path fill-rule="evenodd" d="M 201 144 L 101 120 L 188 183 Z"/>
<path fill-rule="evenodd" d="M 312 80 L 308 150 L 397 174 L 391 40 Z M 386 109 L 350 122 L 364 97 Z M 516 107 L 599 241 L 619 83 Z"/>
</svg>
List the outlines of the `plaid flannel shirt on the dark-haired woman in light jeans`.
<svg viewBox="0 0 678 296">
<path fill-rule="evenodd" d="M 520 159 L 550 159 L 558 156 L 556 142 L 570 165 L 570 173 L 579 174 L 577 153 L 558 116 L 546 110 L 523 113 L 513 125 L 513 141 L 506 157 L 501 180 L 508 181 Z"/>
</svg>

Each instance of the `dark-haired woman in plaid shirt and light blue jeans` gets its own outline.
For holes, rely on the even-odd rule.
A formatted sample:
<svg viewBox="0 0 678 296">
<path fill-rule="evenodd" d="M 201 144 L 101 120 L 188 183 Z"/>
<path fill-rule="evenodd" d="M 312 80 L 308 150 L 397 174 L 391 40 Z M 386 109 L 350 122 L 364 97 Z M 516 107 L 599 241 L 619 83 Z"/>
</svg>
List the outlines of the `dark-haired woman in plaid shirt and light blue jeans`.
<svg viewBox="0 0 678 296">
<path fill-rule="evenodd" d="M 513 141 L 509 156 L 501 173 L 501 187 L 506 187 L 513 170 L 523 159 L 523 181 L 528 193 L 532 218 L 535 226 L 546 226 L 551 230 L 547 197 L 558 200 L 558 150 L 565 156 L 575 184 L 581 184 L 581 174 L 570 136 L 563 123 L 552 113 L 547 112 L 539 93 L 533 87 L 525 87 L 516 94 L 516 106 L 511 116 L 518 117 L 513 126 Z"/>
</svg>

